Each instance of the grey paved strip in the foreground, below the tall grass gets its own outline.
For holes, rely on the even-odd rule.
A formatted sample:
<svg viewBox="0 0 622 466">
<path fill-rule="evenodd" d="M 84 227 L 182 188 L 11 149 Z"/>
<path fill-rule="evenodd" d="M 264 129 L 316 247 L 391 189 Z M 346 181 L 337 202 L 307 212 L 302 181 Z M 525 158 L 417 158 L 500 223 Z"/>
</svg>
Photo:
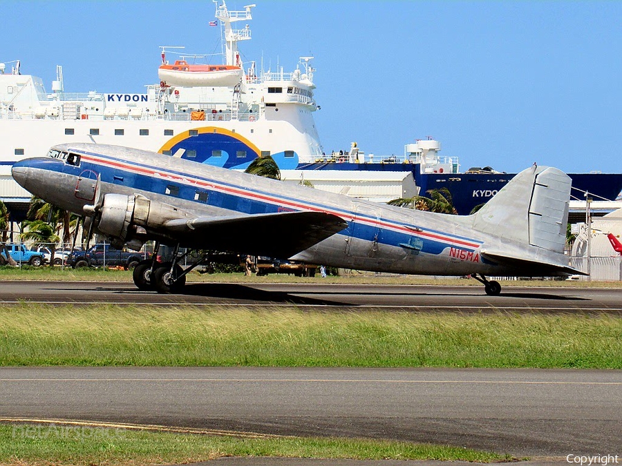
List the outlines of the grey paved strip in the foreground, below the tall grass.
<svg viewBox="0 0 622 466">
<path fill-rule="evenodd" d="M 1 368 L 0 416 L 622 456 L 622 371 Z"/>
</svg>

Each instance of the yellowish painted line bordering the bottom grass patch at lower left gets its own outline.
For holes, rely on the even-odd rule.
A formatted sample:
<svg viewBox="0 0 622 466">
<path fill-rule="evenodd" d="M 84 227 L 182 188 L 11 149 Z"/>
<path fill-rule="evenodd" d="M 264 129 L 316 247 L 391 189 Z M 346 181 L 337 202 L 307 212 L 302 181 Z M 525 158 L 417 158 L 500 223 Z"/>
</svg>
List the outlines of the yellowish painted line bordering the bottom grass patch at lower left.
<svg viewBox="0 0 622 466">
<path fill-rule="evenodd" d="M 173 432 L 176 434 L 202 434 L 227 437 L 246 438 L 292 438 L 294 436 L 277 434 L 258 434 L 257 432 L 244 432 L 220 429 L 196 429 L 194 427 L 167 427 L 153 424 L 129 424 L 129 423 L 100 423 L 91 420 L 66 420 L 66 419 L 39 419 L 39 418 L 0 418 L 0 423 L 32 423 L 48 425 L 71 425 L 77 427 L 102 427 L 106 429 L 147 430 L 158 432 Z"/>
</svg>

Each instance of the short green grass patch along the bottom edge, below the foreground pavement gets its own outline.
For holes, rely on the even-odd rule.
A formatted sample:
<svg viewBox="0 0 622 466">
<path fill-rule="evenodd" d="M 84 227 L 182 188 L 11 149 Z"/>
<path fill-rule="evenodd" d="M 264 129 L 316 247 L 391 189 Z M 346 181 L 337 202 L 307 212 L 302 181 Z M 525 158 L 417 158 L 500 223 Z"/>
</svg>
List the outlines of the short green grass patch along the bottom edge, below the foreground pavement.
<svg viewBox="0 0 622 466">
<path fill-rule="evenodd" d="M 428 459 L 488 463 L 507 455 L 460 447 L 348 438 L 238 438 L 93 427 L 0 425 L 3 465 L 156 465 L 221 456 Z"/>
</svg>

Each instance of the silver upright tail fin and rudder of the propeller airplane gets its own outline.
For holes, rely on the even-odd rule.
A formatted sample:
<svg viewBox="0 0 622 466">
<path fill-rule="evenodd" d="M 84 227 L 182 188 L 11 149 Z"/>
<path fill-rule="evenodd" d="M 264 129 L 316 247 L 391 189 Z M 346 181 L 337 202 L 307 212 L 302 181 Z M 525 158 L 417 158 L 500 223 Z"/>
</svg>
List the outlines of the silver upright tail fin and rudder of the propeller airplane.
<svg viewBox="0 0 622 466">
<path fill-rule="evenodd" d="M 482 249 L 494 262 L 518 265 L 548 264 L 575 273 L 563 255 L 572 180 L 563 171 L 534 164 L 505 185 L 471 215 L 473 229 L 502 240 L 502 250 Z M 541 269 L 541 267 L 540 267 Z"/>
</svg>

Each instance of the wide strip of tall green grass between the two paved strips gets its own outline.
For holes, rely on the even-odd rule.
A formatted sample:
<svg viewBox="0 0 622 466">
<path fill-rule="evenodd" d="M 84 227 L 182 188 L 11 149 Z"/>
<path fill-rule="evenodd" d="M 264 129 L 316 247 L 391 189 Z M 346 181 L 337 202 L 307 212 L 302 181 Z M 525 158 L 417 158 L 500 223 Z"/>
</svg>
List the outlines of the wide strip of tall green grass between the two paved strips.
<svg viewBox="0 0 622 466">
<path fill-rule="evenodd" d="M 622 319 L 292 308 L 0 308 L 0 365 L 622 369 Z"/>
</svg>

